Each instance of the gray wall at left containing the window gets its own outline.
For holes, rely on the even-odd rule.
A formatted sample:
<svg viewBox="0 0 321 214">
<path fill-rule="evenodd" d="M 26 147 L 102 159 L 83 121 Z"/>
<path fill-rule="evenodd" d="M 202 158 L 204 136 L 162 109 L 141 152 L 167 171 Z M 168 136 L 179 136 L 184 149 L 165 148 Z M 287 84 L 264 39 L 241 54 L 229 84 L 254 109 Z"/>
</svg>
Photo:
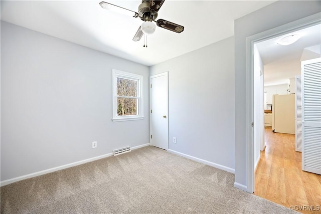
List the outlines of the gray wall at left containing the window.
<svg viewBox="0 0 321 214">
<path fill-rule="evenodd" d="M 6 22 L 1 62 L 2 181 L 149 143 L 148 67 Z M 143 75 L 143 120 L 112 122 L 113 68 Z"/>
</svg>

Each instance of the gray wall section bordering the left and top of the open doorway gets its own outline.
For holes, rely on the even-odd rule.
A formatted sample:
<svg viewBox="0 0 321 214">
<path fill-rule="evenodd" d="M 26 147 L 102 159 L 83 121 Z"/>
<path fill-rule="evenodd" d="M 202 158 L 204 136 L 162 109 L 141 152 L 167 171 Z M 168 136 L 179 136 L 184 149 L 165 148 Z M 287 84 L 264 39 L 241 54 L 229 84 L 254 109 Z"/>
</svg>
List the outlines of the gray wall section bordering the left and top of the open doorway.
<svg viewBox="0 0 321 214">
<path fill-rule="evenodd" d="M 246 177 L 246 38 L 319 13 L 320 1 L 278 1 L 235 20 L 235 182 Z"/>
</svg>

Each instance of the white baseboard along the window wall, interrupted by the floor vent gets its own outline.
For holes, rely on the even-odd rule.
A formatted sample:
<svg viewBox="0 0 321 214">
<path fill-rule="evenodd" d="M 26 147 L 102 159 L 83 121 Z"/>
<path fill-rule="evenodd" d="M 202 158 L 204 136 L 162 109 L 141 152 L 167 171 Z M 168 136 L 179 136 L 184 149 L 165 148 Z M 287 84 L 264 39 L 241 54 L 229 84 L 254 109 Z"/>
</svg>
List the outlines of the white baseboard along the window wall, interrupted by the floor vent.
<svg viewBox="0 0 321 214">
<path fill-rule="evenodd" d="M 134 147 L 131 148 L 131 150 L 138 149 L 138 148 L 141 148 L 141 147 L 144 147 L 144 146 L 149 146 L 149 143 L 142 144 L 142 145 L 139 145 L 139 146 L 134 146 Z M 17 182 L 19 180 L 24 180 L 24 179 L 27 179 L 27 178 L 36 177 L 36 176 L 47 174 L 47 173 L 50 173 L 50 172 L 59 171 L 59 170 L 62 170 L 62 169 L 66 169 L 66 168 L 70 168 L 70 167 L 73 167 L 73 166 L 81 165 L 81 164 L 84 164 L 84 163 L 88 163 L 88 162 L 91 162 L 91 161 L 94 161 L 94 160 L 99 160 L 99 159 L 102 159 L 102 158 L 105 158 L 105 157 L 109 157 L 109 156 L 112 156 L 112 155 L 113 155 L 113 153 L 103 154 L 103 155 L 100 155 L 100 156 L 97 156 L 97 157 L 92 157 L 92 158 L 88 158 L 88 159 L 85 159 L 85 160 L 80 160 L 80 161 L 76 161 L 76 162 L 73 162 L 73 163 L 68 163 L 68 164 L 65 164 L 65 165 L 62 165 L 62 166 L 57 166 L 57 167 L 54 167 L 54 168 L 50 168 L 50 169 L 45 169 L 45 170 L 42 170 L 42 171 L 34 172 L 34 173 L 31 173 L 31 174 L 26 174 L 26 175 L 23 175 L 23 176 L 10 178 L 10 179 L 1 181 L 0 182 L 0 186 L 5 186 L 5 185 L 8 185 L 10 183 Z"/>
</svg>

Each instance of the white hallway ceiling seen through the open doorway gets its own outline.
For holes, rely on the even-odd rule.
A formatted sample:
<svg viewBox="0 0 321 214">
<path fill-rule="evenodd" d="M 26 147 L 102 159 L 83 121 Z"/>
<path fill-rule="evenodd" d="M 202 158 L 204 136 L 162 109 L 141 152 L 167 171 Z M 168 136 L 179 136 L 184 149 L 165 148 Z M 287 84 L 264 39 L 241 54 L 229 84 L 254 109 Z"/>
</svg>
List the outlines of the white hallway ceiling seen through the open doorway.
<svg viewBox="0 0 321 214">
<path fill-rule="evenodd" d="M 288 35 L 297 34 L 301 38 L 295 43 L 282 46 L 278 41 Z M 321 57 L 321 25 L 285 34 L 256 44 L 264 64 L 264 85 L 289 83 L 301 73 L 301 60 Z"/>
</svg>

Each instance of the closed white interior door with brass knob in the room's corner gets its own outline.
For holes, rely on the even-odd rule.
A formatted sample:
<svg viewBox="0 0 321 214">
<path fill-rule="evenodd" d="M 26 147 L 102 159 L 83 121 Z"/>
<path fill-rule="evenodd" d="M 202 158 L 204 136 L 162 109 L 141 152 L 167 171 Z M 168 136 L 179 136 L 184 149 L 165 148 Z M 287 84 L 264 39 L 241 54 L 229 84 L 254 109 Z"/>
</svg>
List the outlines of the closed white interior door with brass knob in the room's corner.
<svg viewBox="0 0 321 214">
<path fill-rule="evenodd" d="M 150 144 L 168 149 L 168 72 L 149 77 Z"/>
</svg>

